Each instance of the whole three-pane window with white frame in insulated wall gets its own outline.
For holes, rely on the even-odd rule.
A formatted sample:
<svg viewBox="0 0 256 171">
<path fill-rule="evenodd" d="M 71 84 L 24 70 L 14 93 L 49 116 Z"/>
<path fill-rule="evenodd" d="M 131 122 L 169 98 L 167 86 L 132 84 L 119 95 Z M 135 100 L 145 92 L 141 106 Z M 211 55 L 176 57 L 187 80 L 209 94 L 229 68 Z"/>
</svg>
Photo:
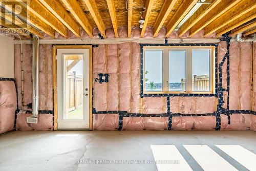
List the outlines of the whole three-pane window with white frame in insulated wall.
<svg viewBox="0 0 256 171">
<path fill-rule="evenodd" d="M 144 47 L 144 94 L 214 93 L 215 47 Z"/>
</svg>

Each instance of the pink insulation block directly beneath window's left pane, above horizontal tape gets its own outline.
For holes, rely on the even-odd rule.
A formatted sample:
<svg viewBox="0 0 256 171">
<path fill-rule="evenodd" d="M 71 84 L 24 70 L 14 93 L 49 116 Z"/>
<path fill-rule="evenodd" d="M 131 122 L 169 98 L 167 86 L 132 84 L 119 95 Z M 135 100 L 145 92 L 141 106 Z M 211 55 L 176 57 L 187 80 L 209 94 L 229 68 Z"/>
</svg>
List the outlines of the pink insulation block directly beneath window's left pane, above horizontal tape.
<svg viewBox="0 0 256 171">
<path fill-rule="evenodd" d="M 167 113 L 166 97 L 144 97 L 143 113 L 144 114 L 162 114 Z"/>
</svg>

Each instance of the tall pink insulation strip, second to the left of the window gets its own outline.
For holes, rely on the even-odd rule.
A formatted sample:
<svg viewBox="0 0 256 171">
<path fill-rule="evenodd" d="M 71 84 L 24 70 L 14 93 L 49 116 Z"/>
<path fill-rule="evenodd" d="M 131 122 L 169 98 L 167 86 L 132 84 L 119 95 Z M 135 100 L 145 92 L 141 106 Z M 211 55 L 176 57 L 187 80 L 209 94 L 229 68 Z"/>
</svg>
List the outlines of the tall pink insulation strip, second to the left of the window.
<svg viewBox="0 0 256 171">
<path fill-rule="evenodd" d="M 131 101 L 131 49 L 130 42 L 118 45 L 120 111 L 130 111 Z"/>
</svg>

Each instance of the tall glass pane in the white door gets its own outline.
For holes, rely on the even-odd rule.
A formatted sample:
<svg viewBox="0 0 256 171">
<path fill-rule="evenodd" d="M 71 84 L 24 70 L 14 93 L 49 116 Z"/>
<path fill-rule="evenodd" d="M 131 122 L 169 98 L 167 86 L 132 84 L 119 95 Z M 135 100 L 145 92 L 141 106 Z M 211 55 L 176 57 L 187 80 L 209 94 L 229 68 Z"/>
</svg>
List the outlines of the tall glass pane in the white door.
<svg viewBox="0 0 256 171">
<path fill-rule="evenodd" d="M 82 55 L 63 55 L 63 119 L 83 119 Z"/>
</svg>

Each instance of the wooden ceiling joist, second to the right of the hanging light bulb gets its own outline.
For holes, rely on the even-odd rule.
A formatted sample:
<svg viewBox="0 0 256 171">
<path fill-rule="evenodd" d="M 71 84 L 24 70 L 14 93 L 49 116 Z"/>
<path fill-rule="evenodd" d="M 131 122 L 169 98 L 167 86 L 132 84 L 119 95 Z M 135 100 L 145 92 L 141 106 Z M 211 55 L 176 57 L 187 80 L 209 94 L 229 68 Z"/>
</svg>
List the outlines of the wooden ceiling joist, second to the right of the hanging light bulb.
<svg viewBox="0 0 256 171">
<path fill-rule="evenodd" d="M 159 30 L 161 29 L 163 23 L 165 22 L 165 19 L 167 18 L 167 16 L 169 15 L 170 11 L 173 9 L 177 1 L 178 0 L 168 0 L 164 2 L 163 7 L 157 16 L 157 20 L 154 25 L 154 37 L 157 37 Z"/>
</svg>

